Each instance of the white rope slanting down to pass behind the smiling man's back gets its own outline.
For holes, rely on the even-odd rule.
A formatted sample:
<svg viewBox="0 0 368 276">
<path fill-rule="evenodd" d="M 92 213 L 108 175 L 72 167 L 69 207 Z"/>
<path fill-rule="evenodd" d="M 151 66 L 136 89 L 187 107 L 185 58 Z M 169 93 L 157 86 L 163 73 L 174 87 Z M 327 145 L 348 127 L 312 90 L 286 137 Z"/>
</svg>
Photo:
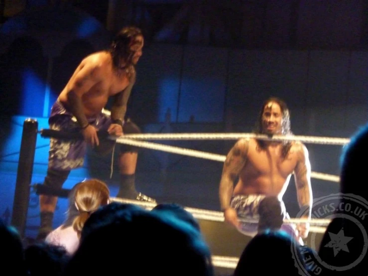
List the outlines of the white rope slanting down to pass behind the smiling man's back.
<svg viewBox="0 0 368 276">
<path fill-rule="evenodd" d="M 182 155 L 204 158 L 204 159 L 220 161 L 220 162 L 224 162 L 226 159 L 226 156 L 221 155 L 221 154 L 204 152 L 204 151 L 199 151 L 199 150 L 194 150 L 194 149 L 189 149 L 189 148 L 182 148 L 182 147 L 171 146 L 171 145 L 163 145 L 163 144 L 158 144 L 158 143 L 153 143 L 153 142 L 137 141 L 137 140 L 123 138 L 123 137 L 116 138 L 116 141 L 119 143 L 129 144 L 133 146 L 146 147 L 150 149 L 162 150 L 162 151 L 166 151 L 170 153 L 182 154 Z M 313 171 L 311 172 L 311 177 L 316 178 L 316 179 L 321 179 L 321 180 L 332 181 L 332 182 L 340 181 L 340 177 L 337 175 L 331 175 L 327 173 L 320 173 L 320 172 L 313 172 Z"/>
</svg>

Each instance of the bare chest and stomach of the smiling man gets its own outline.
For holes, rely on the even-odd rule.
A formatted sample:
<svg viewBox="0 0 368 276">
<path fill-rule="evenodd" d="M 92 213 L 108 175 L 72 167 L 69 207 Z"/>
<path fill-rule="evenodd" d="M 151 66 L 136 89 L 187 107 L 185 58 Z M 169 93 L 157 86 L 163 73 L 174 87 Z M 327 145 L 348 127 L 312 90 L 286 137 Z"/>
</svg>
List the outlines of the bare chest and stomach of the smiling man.
<svg viewBox="0 0 368 276">
<path fill-rule="evenodd" d="M 234 194 L 265 194 L 278 196 L 286 191 L 298 161 L 298 145 L 293 144 L 286 158 L 280 143 L 261 149 L 254 139 L 248 142 L 246 162 L 239 173 Z"/>
</svg>

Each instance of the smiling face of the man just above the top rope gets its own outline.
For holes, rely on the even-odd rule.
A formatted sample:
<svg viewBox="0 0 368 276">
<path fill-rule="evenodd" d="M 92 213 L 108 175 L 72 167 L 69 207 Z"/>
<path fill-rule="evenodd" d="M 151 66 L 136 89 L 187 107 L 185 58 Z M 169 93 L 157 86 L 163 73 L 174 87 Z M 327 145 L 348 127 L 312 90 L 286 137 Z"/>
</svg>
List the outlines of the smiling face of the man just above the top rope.
<svg viewBox="0 0 368 276">
<path fill-rule="evenodd" d="M 275 102 L 269 102 L 264 106 L 262 114 L 262 128 L 265 134 L 281 134 L 282 112 Z"/>
</svg>

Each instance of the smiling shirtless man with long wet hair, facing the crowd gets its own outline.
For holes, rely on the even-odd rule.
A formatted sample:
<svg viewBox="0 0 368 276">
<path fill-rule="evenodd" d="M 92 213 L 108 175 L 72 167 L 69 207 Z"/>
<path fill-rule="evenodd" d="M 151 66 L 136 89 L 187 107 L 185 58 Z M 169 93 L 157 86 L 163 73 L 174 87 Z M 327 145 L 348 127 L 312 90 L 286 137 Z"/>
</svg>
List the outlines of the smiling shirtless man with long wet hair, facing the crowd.
<svg viewBox="0 0 368 276">
<path fill-rule="evenodd" d="M 278 98 L 267 99 L 262 105 L 254 132 L 268 137 L 291 135 L 286 104 Z M 254 236 L 257 223 L 240 222 L 239 218 L 259 219 L 259 203 L 268 196 L 279 199 L 284 218 L 287 218 L 282 197 L 293 173 L 299 206 L 307 210 L 306 217 L 310 218 L 311 166 L 305 145 L 287 140 L 238 140 L 226 157 L 220 181 L 220 204 L 225 221 L 242 233 Z M 290 232 L 290 225 L 282 227 Z M 298 225 L 295 234 L 302 243 L 301 239 L 308 235 L 308 224 Z"/>
</svg>

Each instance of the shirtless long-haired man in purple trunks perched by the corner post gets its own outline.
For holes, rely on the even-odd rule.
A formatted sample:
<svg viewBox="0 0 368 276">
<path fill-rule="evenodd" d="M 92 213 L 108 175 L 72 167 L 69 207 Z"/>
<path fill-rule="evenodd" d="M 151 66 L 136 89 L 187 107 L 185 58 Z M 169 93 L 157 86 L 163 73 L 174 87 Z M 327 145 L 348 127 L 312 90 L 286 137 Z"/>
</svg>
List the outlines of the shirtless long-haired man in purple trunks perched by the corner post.
<svg viewBox="0 0 368 276">
<path fill-rule="evenodd" d="M 61 188 L 70 171 L 83 166 L 87 145 L 100 153 L 110 152 L 115 141 L 98 133 L 121 136 L 140 133 L 130 120 L 125 120 L 127 102 L 135 83 L 135 65 L 142 55 L 143 34 L 134 26 L 124 27 L 110 48 L 85 57 L 61 91 L 51 109 L 50 129 L 81 133 L 84 140 L 50 139 L 49 163 L 44 185 Z M 112 98 L 111 114 L 104 110 Z M 121 185 L 118 197 L 155 201 L 135 190 L 137 148 L 121 145 L 119 167 Z M 57 197 L 40 196 L 41 227 L 38 239 L 52 230 Z"/>
</svg>

